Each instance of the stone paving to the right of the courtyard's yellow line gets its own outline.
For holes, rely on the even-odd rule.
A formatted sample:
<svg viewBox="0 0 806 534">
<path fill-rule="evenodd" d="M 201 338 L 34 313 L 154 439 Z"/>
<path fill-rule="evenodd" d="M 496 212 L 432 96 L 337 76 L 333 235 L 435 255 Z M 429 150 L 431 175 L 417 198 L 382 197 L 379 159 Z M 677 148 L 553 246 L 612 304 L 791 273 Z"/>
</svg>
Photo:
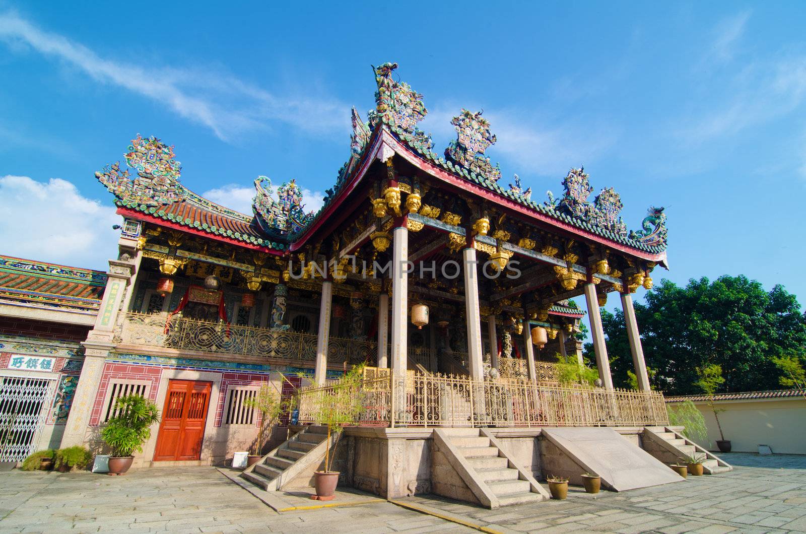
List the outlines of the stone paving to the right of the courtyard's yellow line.
<svg viewBox="0 0 806 534">
<path fill-rule="evenodd" d="M 435 495 L 405 500 L 512 532 L 806 532 L 806 456 L 722 455 L 734 470 L 622 493 L 486 510 Z"/>
</svg>

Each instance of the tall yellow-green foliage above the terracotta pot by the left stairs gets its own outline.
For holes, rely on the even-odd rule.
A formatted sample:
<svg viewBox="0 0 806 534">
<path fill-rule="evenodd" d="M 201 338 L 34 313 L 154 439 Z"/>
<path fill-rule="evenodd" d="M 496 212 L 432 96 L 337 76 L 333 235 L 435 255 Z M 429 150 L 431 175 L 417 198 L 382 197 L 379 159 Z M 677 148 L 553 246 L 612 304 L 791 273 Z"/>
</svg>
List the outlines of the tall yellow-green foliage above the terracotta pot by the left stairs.
<svg viewBox="0 0 806 534">
<path fill-rule="evenodd" d="M 325 449 L 325 471 L 329 472 L 333 466 L 335 449 L 339 445 L 344 427 L 358 423 L 359 416 L 364 411 L 365 395 L 361 391 L 363 378 L 364 365 L 354 365 L 343 378 L 339 379 L 339 382 L 329 386 L 325 394 L 317 397 L 314 420 L 326 425 L 328 441 L 331 433 L 336 434 L 333 450 Z"/>
</svg>

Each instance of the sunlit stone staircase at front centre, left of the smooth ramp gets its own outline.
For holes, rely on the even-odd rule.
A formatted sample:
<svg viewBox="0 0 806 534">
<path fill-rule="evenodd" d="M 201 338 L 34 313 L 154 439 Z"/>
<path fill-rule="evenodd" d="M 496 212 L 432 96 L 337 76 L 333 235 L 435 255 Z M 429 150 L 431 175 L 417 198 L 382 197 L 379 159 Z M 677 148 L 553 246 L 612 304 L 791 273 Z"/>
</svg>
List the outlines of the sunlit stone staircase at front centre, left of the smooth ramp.
<svg viewBox="0 0 806 534">
<path fill-rule="evenodd" d="M 488 500 L 489 507 L 496 508 L 537 503 L 549 498 L 546 490 L 506 455 L 498 440 L 486 429 L 442 428 L 435 432 L 447 441 L 459 461 L 463 460 L 463 470 L 472 478 L 472 483 L 467 483 L 467 479 L 465 482 L 472 490 L 483 494 L 480 498 L 482 504 L 487 504 L 485 501 Z"/>
</svg>

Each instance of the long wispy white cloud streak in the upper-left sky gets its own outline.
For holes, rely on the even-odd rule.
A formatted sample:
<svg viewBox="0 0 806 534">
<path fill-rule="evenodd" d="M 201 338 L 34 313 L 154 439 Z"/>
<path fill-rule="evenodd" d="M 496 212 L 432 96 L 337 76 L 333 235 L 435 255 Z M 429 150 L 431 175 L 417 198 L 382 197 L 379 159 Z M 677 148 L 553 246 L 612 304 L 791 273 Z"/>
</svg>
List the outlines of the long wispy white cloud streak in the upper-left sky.
<svg viewBox="0 0 806 534">
<path fill-rule="evenodd" d="M 294 94 L 281 97 L 223 73 L 116 62 L 82 44 L 43 31 L 12 13 L 0 14 L 0 40 L 13 52 L 27 45 L 81 69 L 96 81 L 123 87 L 168 106 L 218 138 L 271 127 L 280 121 L 314 135 L 347 132 L 349 107 L 334 98 Z"/>
</svg>

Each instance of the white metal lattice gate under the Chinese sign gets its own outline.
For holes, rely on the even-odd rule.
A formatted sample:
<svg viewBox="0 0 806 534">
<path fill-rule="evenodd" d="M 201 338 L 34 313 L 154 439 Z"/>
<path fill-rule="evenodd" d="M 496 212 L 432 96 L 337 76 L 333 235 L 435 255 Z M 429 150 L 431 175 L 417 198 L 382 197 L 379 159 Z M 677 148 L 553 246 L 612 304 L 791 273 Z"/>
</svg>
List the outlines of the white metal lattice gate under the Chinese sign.
<svg viewBox="0 0 806 534">
<path fill-rule="evenodd" d="M 48 417 L 53 378 L 0 376 L 0 461 L 23 461 Z"/>
</svg>

